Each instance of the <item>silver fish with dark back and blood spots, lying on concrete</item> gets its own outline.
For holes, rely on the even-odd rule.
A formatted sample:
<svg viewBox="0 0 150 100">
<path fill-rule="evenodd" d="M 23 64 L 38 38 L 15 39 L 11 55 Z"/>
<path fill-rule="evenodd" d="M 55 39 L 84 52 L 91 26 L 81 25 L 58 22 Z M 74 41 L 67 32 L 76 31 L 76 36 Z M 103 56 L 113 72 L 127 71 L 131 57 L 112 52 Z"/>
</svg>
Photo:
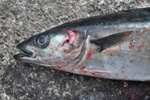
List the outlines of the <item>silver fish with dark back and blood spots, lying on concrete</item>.
<svg viewBox="0 0 150 100">
<path fill-rule="evenodd" d="M 80 18 L 19 43 L 14 58 L 80 75 L 150 80 L 150 8 Z"/>
</svg>

